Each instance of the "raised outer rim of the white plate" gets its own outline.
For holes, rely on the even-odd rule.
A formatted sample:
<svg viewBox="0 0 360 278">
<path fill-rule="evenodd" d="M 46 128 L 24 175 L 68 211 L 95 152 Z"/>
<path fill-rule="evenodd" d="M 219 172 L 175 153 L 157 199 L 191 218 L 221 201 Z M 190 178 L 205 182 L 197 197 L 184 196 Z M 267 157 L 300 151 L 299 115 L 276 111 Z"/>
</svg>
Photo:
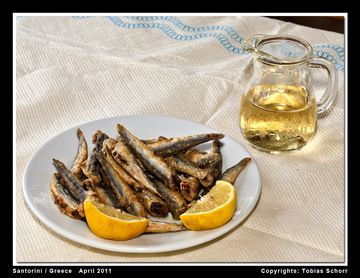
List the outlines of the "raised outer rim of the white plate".
<svg viewBox="0 0 360 278">
<path fill-rule="evenodd" d="M 88 238 L 81 238 L 80 236 L 72 233 L 72 232 L 68 232 L 66 229 L 61 229 L 59 228 L 56 224 L 53 224 L 52 221 L 49 221 L 48 219 L 46 219 L 45 216 L 43 216 L 32 204 L 31 200 L 29 199 L 29 196 L 27 194 L 27 188 L 26 188 L 26 179 L 29 176 L 29 167 L 32 164 L 33 160 L 36 159 L 36 157 L 38 156 L 38 154 L 41 152 L 42 149 L 44 149 L 49 142 L 51 142 L 52 140 L 54 140 L 55 138 L 61 137 L 61 135 L 63 135 L 64 133 L 68 132 L 71 129 L 74 129 L 76 127 L 82 126 L 82 125 L 88 125 L 88 124 L 93 124 L 97 121 L 106 121 L 106 120 L 115 120 L 115 119 L 121 119 L 121 118 L 134 118 L 134 117 L 156 117 L 156 118 L 166 118 L 166 119 L 170 119 L 170 120 L 177 120 L 177 121 L 183 121 L 185 123 L 189 123 L 189 124 L 196 124 L 196 125 L 200 125 L 200 126 L 204 126 L 206 128 L 212 129 L 214 131 L 217 132 L 221 132 L 217 129 L 214 129 L 213 127 L 210 127 L 206 124 L 202 124 L 199 122 L 194 122 L 194 121 L 190 121 L 187 119 L 182 119 L 182 118 L 175 118 L 175 117 L 171 117 L 171 116 L 164 116 L 164 115 L 154 115 L 154 114 L 132 114 L 132 115 L 124 115 L 124 116 L 113 116 L 113 117 L 106 117 L 106 118 L 101 118 L 101 119 L 95 119 L 89 122 L 85 122 L 85 123 L 80 123 L 76 126 L 67 128 L 66 130 L 61 131 L 60 133 L 54 135 L 53 137 L 51 137 L 49 140 L 47 140 L 40 148 L 38 148 L 35 153 L 30 157 L 29 161 L 26 164 L 26 167 L 24 169 L 24 174 L 23 174 L 23 179 L 22 179 L 22 193 L 23 193 L 23 197 L 25 200 L 25 203 L 27 204 L 28 208 L 30 208 L 30 212 L 33 213 L 38 220 L 40 220 L 40 222 L 42 224 L 44 224 L 47 228 L 49 228 L 50 230 L 52 230 L 53 232 L 56 232 L 57 234 L 61 235 L 62 237 L 66 238 L 67 240 L 71 240 L 73 242 L 85 245 L 85 246 L 89 246 L 92 248 L 96 248 L 96 249 L 100 249 L 100 250 L 106 250 L 106 251 L 111 251 L 111 252 L 117 252 L 117 253 L 137 253 L 137 254 L 141 254 L 141 253 L 164 253 L 164 252 L 172 252 L 172 251 L 178 251 L 178 250 L 183 250 L 183 249 L 189 249 L 191 247 L 196 247 L 196 246 L 200 246 L 206 242 L 210 242 L 222 235 L 226 235 L 228 233 L 230 233 L 232 230 L 234 230 L 235 227 L 239 226 L 244 219 L 246 219 L 248 216 L 250 216 L 250 214 L 253 212 L 254 208 L 256 207 L 257 203 L 260 200 L 260 195 L 262 192 L 262 183 L 261 183 L 261 175 L 260 175 L 260 171 L 259 171 L 259 166 L 256 162 L 256 160 L 253 158 L 253 156 L 248 152 L 248 150 L 242 145 L 240 144 L 238 141 L 236 141 L 235 139 L 233 139 L 230 135 L 227 135 L 226 133 L 222 132 L 225 134 L 226 137 L 228 137 L 230 140 L 234 141 L 236 144 L 240 145 L 247 153 L 248 155 L 252 158 L 252 162 L 255 164 L 255 168 L 256 168 L 256 173 L 258 175 L 258 183 L 256 184 L 256 192 L 255 195 L 253 196 L 253 198 L 255 199 L 254 202 L 252 202 L 250 204 L 250 206 L 248 207 L 248 212 L 246 214 L 244 214 L 243 216 L 241 216 L 239 219 L 237 219 L 237 221 L 235 222 L 228 222 L 225 225 L 227 225 L 226 231 L 224 232 L 221 229 L 213 229 L 213 232 L 207 235 L 204 235 L 201 238 L 194 238 L 194 239 L 189 239 L 187 240 L 185 243 L 181 243 L 181 244 L 175 244 L 175 245 L 160 245 L 160 246 L 156 246 L 156 247 L 134 247 L 134 246 L 125 246 L 125 245 L 113 245 L 111 244 L 111 241 L 109 241 L 109 243 L 102 243 L 102 242 L 97 242 L 96 240 L 93 239 L 88 239 Z M 255 186 L 255 185 L 254 185 Z M 224 226 L 225 226 L 224 225 Z M 224 227 L 222 226 L 222 227 Z M 221 228 L 221 227 L 219 227 Z M 195 241 L 195 242 L 194 242 Z M 121 241 L 120 241 L 121 242 Z M 155 249 L 155 250 L 154 250 Z"/>
</svg>

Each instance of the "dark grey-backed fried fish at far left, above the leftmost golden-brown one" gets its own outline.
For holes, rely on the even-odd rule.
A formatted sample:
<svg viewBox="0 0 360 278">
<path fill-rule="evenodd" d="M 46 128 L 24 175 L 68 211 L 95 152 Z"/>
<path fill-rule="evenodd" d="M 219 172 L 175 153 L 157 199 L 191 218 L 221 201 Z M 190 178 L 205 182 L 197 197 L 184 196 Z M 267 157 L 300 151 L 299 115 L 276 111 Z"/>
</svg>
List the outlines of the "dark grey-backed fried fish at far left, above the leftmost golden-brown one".
<svg viewBox="0 0 360 278">
<path fill-rule="evenodd" d="M 67 189 L 83 203 L 86 199 L 87 192 L 83 189 L 81 181 L 68 169 L 60 160 L 53 159 L 53 165 L 65 182 Z"/>
</svg>

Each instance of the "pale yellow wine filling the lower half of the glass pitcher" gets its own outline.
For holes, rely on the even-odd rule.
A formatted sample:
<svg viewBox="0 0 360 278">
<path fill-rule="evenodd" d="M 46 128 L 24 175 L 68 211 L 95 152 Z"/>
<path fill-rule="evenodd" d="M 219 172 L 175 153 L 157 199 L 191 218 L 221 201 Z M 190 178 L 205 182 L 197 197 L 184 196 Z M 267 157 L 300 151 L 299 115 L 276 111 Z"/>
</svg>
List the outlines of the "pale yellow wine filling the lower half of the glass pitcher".
<svg viewBox="0 0 360 278">
<path fill-rule="evenodd" d="M 243 96 L 240 126 L 244 137 L 261 150 L 297 150 L 316 133 L 316 109 L 305 87 L 262 84 Z"/>
</svg>

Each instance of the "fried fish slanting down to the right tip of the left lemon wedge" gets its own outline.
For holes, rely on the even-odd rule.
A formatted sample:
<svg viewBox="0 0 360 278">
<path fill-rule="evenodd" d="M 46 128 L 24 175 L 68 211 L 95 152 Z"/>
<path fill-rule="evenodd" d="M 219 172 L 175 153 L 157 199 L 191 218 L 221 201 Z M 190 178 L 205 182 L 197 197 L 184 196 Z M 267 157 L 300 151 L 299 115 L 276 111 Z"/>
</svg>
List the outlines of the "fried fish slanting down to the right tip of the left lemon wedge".
<svg viewBox="0 0 360 278">
<path fill-rule="evenodd" d="M 102 153 L 97 154 L 97 159 L 100 162 L 104 172 L 109 177 L 111 188 L 121 203 L 125 201 L 125 209 L 132 215 L 146 217 L 144 206 L 138 201 L 135 193 L 131 190 L 130 186 L 120 177 L 116 170 L 105 159 Z"/>
</svg>

